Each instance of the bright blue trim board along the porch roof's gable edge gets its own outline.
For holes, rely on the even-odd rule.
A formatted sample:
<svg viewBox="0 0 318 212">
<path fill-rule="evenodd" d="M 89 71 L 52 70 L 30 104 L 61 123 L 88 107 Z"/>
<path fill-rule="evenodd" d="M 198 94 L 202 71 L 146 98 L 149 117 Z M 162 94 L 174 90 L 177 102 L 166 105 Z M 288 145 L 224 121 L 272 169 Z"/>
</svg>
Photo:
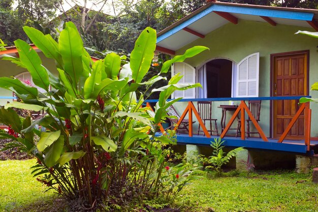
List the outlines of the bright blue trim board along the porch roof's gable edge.
<svg viewBox="0 0 318 212">
<path fill-rule="evenodd" d="M 175 33 L 182 30 L 184 27 L 196 22 L 200 18 L 206 16 L 207 14 L 213 11 L 238 13 L 238 14 L 244 14 L 244 15 L 268 16 L 272 18 L 284 18 L 284 19 L 303 20 L 303 21 L 311 21 L 313 18 L 313 13 L 308 13 L 308 12 L 274 10 L 274 9 L 265 9 L 265 8 L 250 8 L 250 7 L 239 7 L 239 6 L 228 6 L 228 5 L 212 5 L 211 7 L 203 10 L 197 15 L 182 22 L 180 25 L 170 29 L 170 31 L 168 31 L 167 33 L 157 37 L 157 43 L 174 35 Z"/>
</svg>

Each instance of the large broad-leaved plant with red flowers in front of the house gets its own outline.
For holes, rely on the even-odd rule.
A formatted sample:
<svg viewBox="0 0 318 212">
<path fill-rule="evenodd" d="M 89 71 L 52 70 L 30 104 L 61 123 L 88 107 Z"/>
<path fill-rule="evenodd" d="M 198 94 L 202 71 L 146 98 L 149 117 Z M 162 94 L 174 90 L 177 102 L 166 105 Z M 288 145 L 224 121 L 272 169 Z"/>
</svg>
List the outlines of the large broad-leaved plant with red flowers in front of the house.
<svg viewBox="0 0 318 212">
<path fill-rule="evenodd" d="M 25 68 L 34 84 L 45 90 L 40 92 L 14 77 L 0 77 L 0 87 L 20 100 L 0 108 L 0 122 L 19 135 L 0 134 L 13 139 L 7 148 L 18 146 L 33 154 L 38 159 L 33 173 L 39 181 L 61 195 L 83 199 L 90 207 L 118 187 L 129 185 L 156 193 L 158 183 L 153 180 L 160 178 L 161 171 L 154 161 L 164 161 L 162 142 L 172 141 L 154 135 L 167 116 L 166 108 L 177 101 L 167 99 L 175 90 L 200 84 L 180 85 L 181 76 L 174 76 L 167 86 L 152 90 L 161 92 L 154 113 L 141 107 L 145 97 L 138 89 L 144 86 L 148 90 L 154 82 L 166 80 L 161 73 L 172 63 L 208 48 L 188 49 L 165 62 L 161 73 L 144 81 L 156 47 L 156 32 L 150 27 L 137 39 L 130 62 L 115 53 L 93 62 L 72 22 L 66 23 L 58 42 L 38 29 L 23 29 L 43 54 L 55 61 L 53 69 L 58 74 L 44 67 L 38 53 L 22 40 L 15 41 L 19 58 L 3 57 Z M 15 108 L 44 110 L 46 115 L 37 120 L 22 118 Z"/>
</svg>

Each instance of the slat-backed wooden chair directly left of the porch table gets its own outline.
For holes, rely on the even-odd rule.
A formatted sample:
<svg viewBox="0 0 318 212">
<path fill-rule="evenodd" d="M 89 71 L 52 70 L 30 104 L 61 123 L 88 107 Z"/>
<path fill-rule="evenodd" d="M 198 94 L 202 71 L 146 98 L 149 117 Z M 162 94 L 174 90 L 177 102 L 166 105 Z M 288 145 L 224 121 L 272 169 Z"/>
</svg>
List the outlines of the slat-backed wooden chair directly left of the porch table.
<svg viewBox="0 0 318 212">
<path fill-rule="evenodd" d="M 216 132 L 216 135 L 218 136 L 217 124 L 216 124 L 217 119 L 211 117 L 212 116 L 212 102 L 198 101 L 198 112 L 199 112 L 199 115 L 200 115 L 204 125 L 206 122 L 210 122 L 210 130 L 208 130 L 208 132 L 210 132 L 210 135 L 213 134 L 212 132 Z M 212 129 L 212 121 L 214 121 L 215 130 Z M 200 132 L 203 132 L 203 130 L 200 130 L 200 128 L 201 128 L 201 126 L 199 125 L 198 135 L 200 134 Z"/>
</svg>

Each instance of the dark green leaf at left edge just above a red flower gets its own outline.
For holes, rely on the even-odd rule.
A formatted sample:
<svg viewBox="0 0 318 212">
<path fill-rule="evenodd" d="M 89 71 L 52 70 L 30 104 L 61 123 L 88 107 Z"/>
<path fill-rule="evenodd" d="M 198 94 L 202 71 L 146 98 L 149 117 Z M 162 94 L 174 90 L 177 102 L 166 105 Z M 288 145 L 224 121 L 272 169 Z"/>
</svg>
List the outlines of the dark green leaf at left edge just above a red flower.
<svg viewBox="0 0 318 212">
<path fill-rule="evenodd" d="M 11 125 L 11 128 L 15 132 L 20 132 L 22 129 L 20 117 L 18 116 L 17 112 L 12 108 L 0 108 L 0 121 L 5 125 Z"/>
</svg>

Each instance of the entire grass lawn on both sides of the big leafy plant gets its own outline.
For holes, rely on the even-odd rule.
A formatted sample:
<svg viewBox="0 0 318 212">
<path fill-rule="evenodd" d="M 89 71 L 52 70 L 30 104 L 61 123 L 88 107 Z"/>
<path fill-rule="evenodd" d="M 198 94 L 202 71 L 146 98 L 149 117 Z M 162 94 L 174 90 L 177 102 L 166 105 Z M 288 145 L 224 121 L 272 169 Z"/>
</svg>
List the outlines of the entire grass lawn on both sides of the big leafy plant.
<svg viewBox="0 0 318 212">
<path fill-rule="evenodd" d="M 56 203 L 59 200 L 52 191 L 43 193 L 46 188 L 31 176 L 29 167 L 35 163 L 0 161 L 0 211 L 67 211 Z M 318 211 L 318 185 L 311 183 L 310 174 L 280 171 L 230 176 L 233 173 L 215 178 L 200 171 L 203 177 L 186 186 L 172 206 L 184 212 Z"/>
</svg>

